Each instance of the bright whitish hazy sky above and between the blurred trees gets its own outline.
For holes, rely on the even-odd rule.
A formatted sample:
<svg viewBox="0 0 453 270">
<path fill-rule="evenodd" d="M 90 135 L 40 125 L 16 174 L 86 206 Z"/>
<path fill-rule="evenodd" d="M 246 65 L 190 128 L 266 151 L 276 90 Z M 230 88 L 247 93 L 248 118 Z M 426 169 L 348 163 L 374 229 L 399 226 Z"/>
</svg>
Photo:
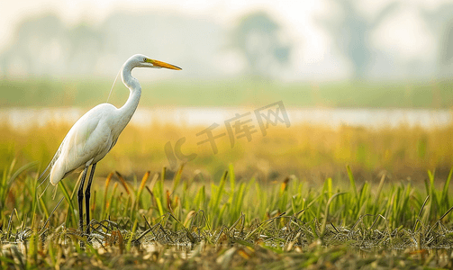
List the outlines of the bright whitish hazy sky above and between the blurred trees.
<svg viewBox="0 0 453 270">
<path fill-rule="evenodd" d="M 359 9 L 372 18 L 392 0 L 361 0 Z M 400 0 L 402 8 L 381 23 L 371 39 L 379 49 L 391 49 L 399 58 L 412 59 L 435 57 L 433 37 L 421 20 L 420 8 L 434 10 L 451 0 Z M 335 14 L 329 0 L 14 0 L 5 1 L 0 9 L 0 51 L 12 40 L 14 29 L 24 17 L 53 12 L 65 22 L 76 24 L 82 21 L 102 23 L 114 11 L 128 10 L 208 16 L 226 29 L 243 14 L 252 10 L 265 10 L 272 14 L 294 40 L 294 73 L 311 72 L 316 76 L 330 67 L 331 73 L 342 77 L 349 72 L 341 58 L 332 57 L 332 43 L 328 32 L 316 25 L 313 18 Z M 310 67 L 310 68 L 307 68 Z M 341 68 L 339 68 L 341 67 Z M 318 70 L 318 69 L 319 70 Z"/>
</svg>

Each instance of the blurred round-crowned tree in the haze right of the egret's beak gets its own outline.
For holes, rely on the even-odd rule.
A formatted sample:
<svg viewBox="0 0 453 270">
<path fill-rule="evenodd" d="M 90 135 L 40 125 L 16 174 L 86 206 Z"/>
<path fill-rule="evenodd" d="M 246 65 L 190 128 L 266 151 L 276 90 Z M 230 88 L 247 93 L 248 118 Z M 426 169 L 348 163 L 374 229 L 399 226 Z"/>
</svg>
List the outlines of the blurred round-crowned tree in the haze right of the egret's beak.
<svg viewBox="0 0 453 270">
<path fill-rule="evenodd" d="M 272 76 L 289 63 L 292 46 L 281 26 L 268 14 L 244 16 L 232 31 L 232 47 L 246 58 L 252 76 Z"/>
</svg>

